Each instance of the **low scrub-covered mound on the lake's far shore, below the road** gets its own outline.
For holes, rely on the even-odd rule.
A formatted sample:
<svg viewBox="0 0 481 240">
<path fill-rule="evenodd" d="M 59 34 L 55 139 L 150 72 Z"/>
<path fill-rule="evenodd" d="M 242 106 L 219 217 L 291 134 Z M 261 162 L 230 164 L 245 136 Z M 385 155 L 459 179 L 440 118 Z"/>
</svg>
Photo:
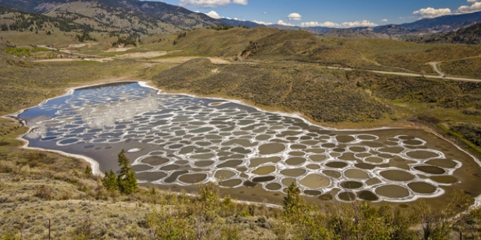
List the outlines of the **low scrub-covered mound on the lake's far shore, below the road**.
<svg viewBox="0 0 481 240">
<path fill-rule="evenodd" d="M 214 69 L 218 71 L 213 73 Z M 191 60 L 153 80 L 168 91 L 244 99 L 302 112 L 315 121 L 374 121 L 392 112 L 346 80 L 345 73 L 295 62 L 219 67 L 209 60 Z"/>
</svg>

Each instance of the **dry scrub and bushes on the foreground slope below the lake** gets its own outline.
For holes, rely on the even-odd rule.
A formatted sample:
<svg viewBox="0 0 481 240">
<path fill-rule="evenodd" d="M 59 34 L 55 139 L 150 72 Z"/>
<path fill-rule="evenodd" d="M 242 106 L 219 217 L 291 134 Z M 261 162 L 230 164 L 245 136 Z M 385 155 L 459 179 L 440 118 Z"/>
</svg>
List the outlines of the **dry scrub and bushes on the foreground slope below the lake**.
<svg viewBox="0 0 481 240">
<path fill-rule="evenodd" d="M 15 136 L 18 129 L 8 136 Z M 108 189 L 74 158 L 0 146 L 3 239 L 478 239 L 480 209 L 457 193 L 434 209 L 366 202 L 315 206 L 292 184 L 280 208 L 240 204 L 215 183 L 199 195 L 140 187 Z M 121 154 L 119 154 L 121 158 Z"/>
</svg>

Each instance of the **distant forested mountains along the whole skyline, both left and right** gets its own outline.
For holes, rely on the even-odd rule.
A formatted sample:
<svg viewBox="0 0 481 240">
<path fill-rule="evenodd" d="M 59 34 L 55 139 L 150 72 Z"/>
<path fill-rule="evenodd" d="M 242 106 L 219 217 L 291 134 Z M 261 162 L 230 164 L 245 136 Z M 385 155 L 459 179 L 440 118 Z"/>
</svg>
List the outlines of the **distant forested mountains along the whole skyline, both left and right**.
<svg viewBox="0 0 481 240">
<path fill-rule="evenodd" d="M 199 27 L 221 25 L 245 27 L 275 27 L 282 30 L 304 29 L 324 37 L 343 38 L 396 38 L 407 39 L 455 32 L 481 23 L 481 12 L 440 16 L 421 19 L 401 25 L 378 27 L 355 27 L 348 29 L 330 27 L 297 27 L 287 25 L 262 25 L 253 21 L 236 19 L 212 19 L 206 14 L 192 12 L 186 8 L 161 1 L 139 0 L 0 0 L 0 5 L 23 12 L 43 14 L 54 19 L 71 21 L 78 28 L 89 28 L 102 32 L 135 32 L 157 34 L 186 31 Z M 8 24 L 8 21 L 3 21 Z M 470 34 L 472 36 L 473 34 Z M 451 36 L 451 35 L 449 35 Z M 433 38 L 434 39 L 434 38 Z M 425 43 L 434 40 L 425 38 Z M 469 42 L 469 41 L 465 41 Z M 472 42 L 472 41 L 471 41 Z"/>
</svg>

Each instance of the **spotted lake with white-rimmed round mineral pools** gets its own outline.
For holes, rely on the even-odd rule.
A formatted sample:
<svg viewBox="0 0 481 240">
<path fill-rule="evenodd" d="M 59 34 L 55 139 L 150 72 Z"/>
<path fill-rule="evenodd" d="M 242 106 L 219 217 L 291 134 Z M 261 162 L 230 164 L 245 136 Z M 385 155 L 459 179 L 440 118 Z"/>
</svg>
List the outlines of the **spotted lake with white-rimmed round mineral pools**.
<svg viewBox="0 0 481 240">
<path fill-rule="evenodd" d="M 311 200 L 443 201 L 479 195 L 472 156 L 422 130 L 337 131 L 218 99 L 157 93 L 137 82 L 79 88 L 18 115 L 29 147 L 93 158 L 118 171 L 126 149 L 139 182 L 192 191 L 217 180 L 244 200 L 280 202 L 296 182 Z"/>
</svg>

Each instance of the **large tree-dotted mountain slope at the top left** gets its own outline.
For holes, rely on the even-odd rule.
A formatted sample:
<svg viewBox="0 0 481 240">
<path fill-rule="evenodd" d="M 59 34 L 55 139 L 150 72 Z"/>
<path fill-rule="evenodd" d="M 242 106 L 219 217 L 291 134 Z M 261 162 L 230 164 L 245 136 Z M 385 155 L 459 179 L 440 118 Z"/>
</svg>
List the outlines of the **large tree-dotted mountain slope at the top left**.
<svg viewBox="0 0 481 240">
<path fill-rule="evenodd" d="M 158 34 L 225 25 L 205 14 L 162 2 L 0 0 L 0 5 L 56 19 L 69 19 L 102 32 Z"/>
</svg>

